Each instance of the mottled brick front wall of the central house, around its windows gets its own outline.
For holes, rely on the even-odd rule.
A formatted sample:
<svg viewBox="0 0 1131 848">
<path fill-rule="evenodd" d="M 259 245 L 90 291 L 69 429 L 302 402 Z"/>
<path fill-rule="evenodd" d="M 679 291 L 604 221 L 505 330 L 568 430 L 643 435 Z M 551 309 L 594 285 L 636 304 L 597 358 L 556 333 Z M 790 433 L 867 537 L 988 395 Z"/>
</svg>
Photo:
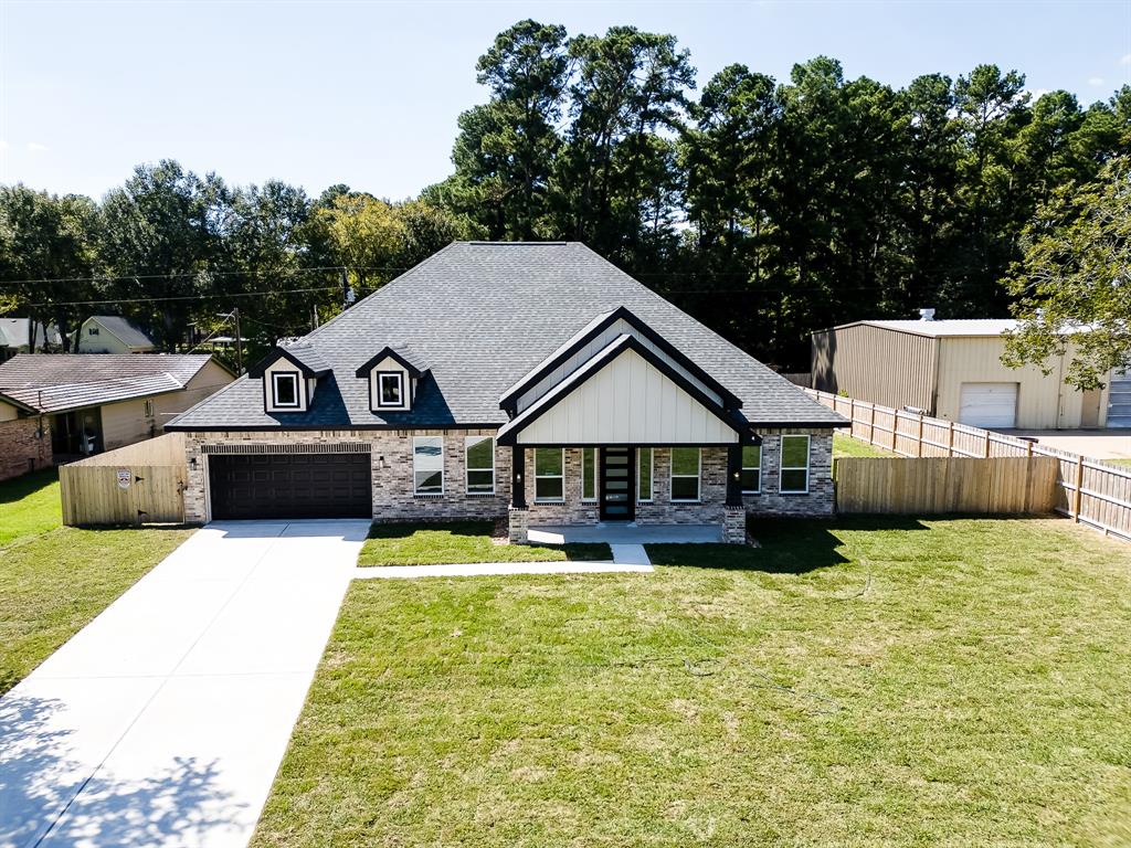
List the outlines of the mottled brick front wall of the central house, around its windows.
<svg viewBox="0 0 1131 848">
<path fill-rule="evenodd" d="M 809 434 L 809 494 L 780 494 L 778 468 L 780 435 Z M 373 518 L 375 520 L 435 520 L 454 518 L 499 519 L 508 514 L 510 504 L 511 449 L 495 451 L 495 494 L 476 495 L 466 491 L 464 439 L 467 435 L 492 435 L 490 430 L 418 430 L 418 431 L 290 431 L 187 433 L 185 451 L 189 465 L 184 493 L 185 520 L 207 520 L 207 457 L 204 444 L 327 444 L 368 442 L 371 445 L 373 481 Z M 444 492 L 442 495 L 413 495 L 413 436 L 443 438 Z M 834 508 L 831 456 L 832 433 L 829 430 L 767 431 L 762 436 L 761 493 L 744 495 L 749 513 L 824 516 Z M 50 439 L 48 440 L 50 445 Z M 637 504 L 638 523 L 719 523 L 725 522 L 726 449 L 703 448 L 698 503 L 672 503 L 671 451 L 656 448 L 653 452 L 653 500 Z M 555 523 L 595 523 L 596 501 L 581 499 L 581 450 L 566 449 L 564 499 L 560 503 L 535 501 L 535 465 L 533 449 L 526 449 L 526 500 L 523 519 L 529 526 Z M 733 523 L 733 521 L 732 521 Z M 732 534 L 733 535 L 733 534 Z"/>
</svg>

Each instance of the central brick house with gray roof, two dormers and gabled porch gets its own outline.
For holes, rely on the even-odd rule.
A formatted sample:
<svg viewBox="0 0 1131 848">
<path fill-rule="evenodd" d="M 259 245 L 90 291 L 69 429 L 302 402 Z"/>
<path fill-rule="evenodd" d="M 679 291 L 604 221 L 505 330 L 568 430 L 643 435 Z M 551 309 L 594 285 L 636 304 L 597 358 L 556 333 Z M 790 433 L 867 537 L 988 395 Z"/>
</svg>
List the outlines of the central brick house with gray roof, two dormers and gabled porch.
<svg viewBox="0 0 1131 848">
<path fill-rule="evenodd" d="M 832 510 L 845 419 L 577 242 L 456 242 L 166 430 L 190 521 Z"/>
</svg>

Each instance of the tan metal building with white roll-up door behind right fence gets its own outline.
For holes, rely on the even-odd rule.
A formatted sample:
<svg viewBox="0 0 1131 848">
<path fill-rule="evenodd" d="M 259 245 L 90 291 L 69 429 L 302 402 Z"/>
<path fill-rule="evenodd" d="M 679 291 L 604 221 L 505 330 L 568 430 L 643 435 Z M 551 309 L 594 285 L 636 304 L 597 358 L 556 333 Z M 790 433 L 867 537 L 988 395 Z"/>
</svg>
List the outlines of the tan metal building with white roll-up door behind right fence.
<svg viewBox="0 0 1131 848">
<path fill-rule="evenodd" d="M 1048 364 L 1005 366 L 1008 319 L 855 321 L 813 334 L 813 388 L 987 430 L 1131 426 L 1131 377 L 1079 391 L 1064 382 L 1071 348 Z"/>
</svg>

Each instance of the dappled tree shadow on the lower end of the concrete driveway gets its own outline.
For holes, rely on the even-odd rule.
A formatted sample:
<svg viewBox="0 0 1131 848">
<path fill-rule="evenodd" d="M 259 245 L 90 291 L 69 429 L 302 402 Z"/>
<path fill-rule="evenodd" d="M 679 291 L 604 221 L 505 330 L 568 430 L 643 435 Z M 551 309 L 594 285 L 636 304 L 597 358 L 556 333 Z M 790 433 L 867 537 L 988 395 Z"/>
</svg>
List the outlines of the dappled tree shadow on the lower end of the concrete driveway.
<svg viewBox="0 0 1131 848">
<path fill-rule="evenodd" d="M 239 827 L 247 805 L 219 787 L 215 761 L 175 758 L 141 779 L 104 768 L 92 777 L 64 712 L 53 699 L 0 699 L 0 845 L 36 845 L 57 825 L 68 843 L 100 846 L 196 845 Z"/>
</svg>

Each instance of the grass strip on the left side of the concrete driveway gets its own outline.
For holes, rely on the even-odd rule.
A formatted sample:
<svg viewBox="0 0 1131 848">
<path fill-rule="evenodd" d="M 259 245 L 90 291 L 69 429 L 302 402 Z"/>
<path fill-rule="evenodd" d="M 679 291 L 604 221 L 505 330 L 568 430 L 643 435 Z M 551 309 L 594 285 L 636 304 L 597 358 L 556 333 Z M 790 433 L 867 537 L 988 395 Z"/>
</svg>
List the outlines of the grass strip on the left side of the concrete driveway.
<svg viewBox="0 0 1131 848">
<path fill-rule="evenodd" d="M 54 471 L 0 483 L 0 694 L 191 533 L 79 530 L 60 521 Z"/>
</svg>

